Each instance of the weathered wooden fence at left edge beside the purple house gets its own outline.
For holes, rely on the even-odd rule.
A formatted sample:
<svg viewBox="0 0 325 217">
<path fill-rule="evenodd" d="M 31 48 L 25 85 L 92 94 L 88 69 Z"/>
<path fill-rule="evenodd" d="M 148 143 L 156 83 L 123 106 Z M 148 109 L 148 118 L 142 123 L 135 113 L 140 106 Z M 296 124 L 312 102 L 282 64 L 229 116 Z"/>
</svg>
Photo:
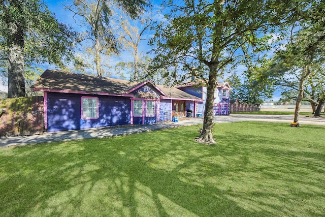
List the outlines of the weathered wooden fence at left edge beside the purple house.
<svg viewBox="0 0 325 217">
<path fill-rule="evenodd" d="M 0 137 L 43 134 L 43 97 L 0 100 Z"/>
</svg>

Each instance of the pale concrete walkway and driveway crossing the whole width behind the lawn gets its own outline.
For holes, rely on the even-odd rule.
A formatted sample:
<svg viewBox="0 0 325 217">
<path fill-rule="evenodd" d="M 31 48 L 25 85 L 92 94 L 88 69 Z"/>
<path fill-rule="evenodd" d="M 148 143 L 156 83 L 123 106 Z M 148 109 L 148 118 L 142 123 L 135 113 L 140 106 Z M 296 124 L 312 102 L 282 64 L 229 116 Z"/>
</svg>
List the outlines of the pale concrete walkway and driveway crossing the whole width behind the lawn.
<svg viewBox="0 0 325 217">
<path fill-rule="evenodd" d="M 235 122 L 235 121 L 276 121 L 276 122 L 288 122 L 294 120 L 293 115 L 244 115 L 244 114 L 231 114 L 228 116 L 215 116 L 215 123 L 222 122 Z M 325 126 L 324 117 L 300 117 L 300 124 L 316 124 Z M 174 128 L 180 126 L 199 125 L 203 123 L 203 118 L 183 118 L 179 122 L 159 122 L 153 125 L 136 125 L 127 127 L 117 128 L 96 128 L 89 130 L 74 130 L 74 131 L 63 131 L 44 133 L 42 135 L 32 136 L 14 136 L 14 137 L 1 137 L 0 147 L 19 146 L 36 143 L 47 143 L 55 141 L 71 141 L 80 140 L 87 138 L 103 138 L 111 137 L 116 135 L 128 135 L 141 133 L 152 130 Z"/>
</svg>

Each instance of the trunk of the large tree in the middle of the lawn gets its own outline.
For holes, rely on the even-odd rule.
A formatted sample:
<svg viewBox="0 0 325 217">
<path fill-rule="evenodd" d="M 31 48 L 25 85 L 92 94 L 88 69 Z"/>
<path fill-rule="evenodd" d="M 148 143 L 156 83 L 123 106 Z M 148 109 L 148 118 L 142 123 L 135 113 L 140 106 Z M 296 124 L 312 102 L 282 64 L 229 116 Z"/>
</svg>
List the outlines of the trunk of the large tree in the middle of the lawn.
<svg viewBox="0 0 325 217">
<path fill-rule="evenodd" d="M 213 139 L 212 128 L 213 128 L 213 101 L 214 101 L 214 91 L 217 87 L 217 77 L 215 70 L 210 67 L 209 82 L 207 86 L 207 99 L 205 103 L 205 112 L 203 127 L 200 137 L 196 139 L 197 142 L 214 145 L 216 142 Z"/>
</svg>

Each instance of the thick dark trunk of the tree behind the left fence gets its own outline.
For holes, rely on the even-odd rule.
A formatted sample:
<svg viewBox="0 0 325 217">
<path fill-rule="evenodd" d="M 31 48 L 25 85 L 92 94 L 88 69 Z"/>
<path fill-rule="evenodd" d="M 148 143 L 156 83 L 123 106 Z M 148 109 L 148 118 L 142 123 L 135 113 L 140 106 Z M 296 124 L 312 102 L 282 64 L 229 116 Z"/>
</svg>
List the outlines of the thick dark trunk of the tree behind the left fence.
<svg viewBox="0 0 325 217">
<path fill-rule="evenodd" d="M 8 98 L 25 97 L 24 33 L 16 22 L 8 23 Z"/>
</svg>

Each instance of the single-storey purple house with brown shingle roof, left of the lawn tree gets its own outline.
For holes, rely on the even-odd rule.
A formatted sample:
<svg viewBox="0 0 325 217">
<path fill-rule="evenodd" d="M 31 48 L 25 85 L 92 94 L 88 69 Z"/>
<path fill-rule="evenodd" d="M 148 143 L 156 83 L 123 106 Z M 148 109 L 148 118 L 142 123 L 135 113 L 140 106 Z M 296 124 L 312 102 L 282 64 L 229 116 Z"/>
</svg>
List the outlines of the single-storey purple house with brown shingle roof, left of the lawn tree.
<svg viewBox="0 0 325 217">
<path fill-rule="evenodd" d="M 181 105 L 178 112 L 196 114 L 196 105 L 204 102 L 197 97 L 204 97 L 204 87 L 184 87 L 190 95 L 150 80 L 136 83 L 56 70 L 44 71 L 31 89 L 44 92 L 49 132 L 168 121 L 173 103 Z"/>
</svg>

